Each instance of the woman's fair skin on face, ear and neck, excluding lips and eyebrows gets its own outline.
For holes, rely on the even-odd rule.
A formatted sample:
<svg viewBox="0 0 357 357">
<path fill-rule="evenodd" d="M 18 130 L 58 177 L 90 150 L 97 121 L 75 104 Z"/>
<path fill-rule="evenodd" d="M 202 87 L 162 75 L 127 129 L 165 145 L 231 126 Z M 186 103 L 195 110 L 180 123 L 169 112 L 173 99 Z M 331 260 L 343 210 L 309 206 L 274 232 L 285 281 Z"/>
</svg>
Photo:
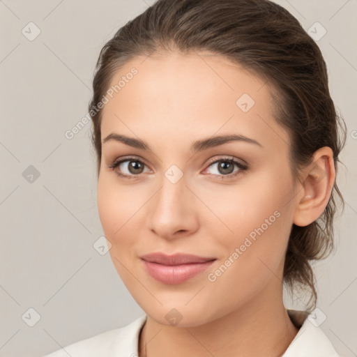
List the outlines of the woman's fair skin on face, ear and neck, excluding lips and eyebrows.
<svg viewBox="0 0 357 357">
<path fill-rule="evenodd" d="M 145 58 L 132 59 L 112 78 L 114 85 L 132 67 L 138 70 L 103 108 L 101 138 L 126 135 L 144 140 L 151 150 L 107 140 L 98 177 L 98 211 L 110 255 L 147 314 L 139 356 L 281 356 L 298 332 L 282 303 L 289 231 L 324 211 L 335 180 L 333 153 L 328 147 L 314 153 L 295 185 L 289 135 L 273 118 L 265 81 L 203 52 Z M 248 112 L 236 105 L 243 93 L 255 100 Z M 231 134 L 260 145 L 231 141 L 190 151 L 197 140 Z M 107 167 L 127 155 L 143 162 L 141 171 L 130 169 L 132 159 Z M 212 163 L 227 162 L 227 156 L 248 169 L 234 165 L 227 173 L 220 162 Z M 176 183 L 165 176 L 172 165 L 183 174 Z M 215 281 L 208 280 L 275 211 L 280 215 L 264 233 Z M 216 260 L 190 280 L 164 284 L 139 258 L 150 252 Z M 165 318 L 172 309 L 182 317 L 176 326 Z"/>
</svg>

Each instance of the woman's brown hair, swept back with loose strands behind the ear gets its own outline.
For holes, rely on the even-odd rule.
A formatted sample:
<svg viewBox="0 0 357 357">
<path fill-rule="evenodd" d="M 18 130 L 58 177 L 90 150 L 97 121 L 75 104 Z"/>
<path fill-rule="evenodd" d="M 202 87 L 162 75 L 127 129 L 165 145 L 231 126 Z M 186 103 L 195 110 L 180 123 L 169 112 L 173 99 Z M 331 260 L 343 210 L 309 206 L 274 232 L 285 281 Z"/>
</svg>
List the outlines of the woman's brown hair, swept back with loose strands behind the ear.
<svg viewBox="0 0 357 357">
<path fill-rule="evenodd" d="M 337 115 L 328 89 L 326 63 L 317 44 L 286 9 L 268 0 L 158 0 L 121 27 L 100 51 L 93 79 L 89 113 L 92 142 L 100 172 L 101 112 L 96 104 L 109 89 L 113 75 L 135 56 L 158 50 L 212 52 L 260 75 L 278 96 L 275 119 L 291 137 L 291 172 L 312 162 L 323 146 L 338 155 L 346 140 L 346 125 Z M 341 120 L 341 121 L 340 121 Z M 344 123 L 342 138 L 338 126 Z M 284 264 L 284 283 L 290 291 L 310 288 L 310 305 L 317 291 L 310 261 L 333 251 L 335 195 L 344 202 L 337 183 L 321 216 L 306 227 L 293 224 Z"/>
</svg>

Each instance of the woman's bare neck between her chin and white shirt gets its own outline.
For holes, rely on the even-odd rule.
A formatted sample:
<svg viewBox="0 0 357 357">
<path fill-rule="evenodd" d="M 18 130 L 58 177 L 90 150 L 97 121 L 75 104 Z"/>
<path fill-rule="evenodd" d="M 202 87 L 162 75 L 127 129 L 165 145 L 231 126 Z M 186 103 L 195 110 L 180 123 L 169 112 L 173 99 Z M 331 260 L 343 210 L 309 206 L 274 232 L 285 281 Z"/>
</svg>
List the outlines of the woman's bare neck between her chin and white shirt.
<svg viewBox="0 0 357 357">
<path fill-rule="evenodd" d="M 282 303 L 282 287 L 269 285 L 254 300 L 200 326 L 165 326 L 148 316 L 139 357 L 282 356 L 298 328 Z"/>
</svg>

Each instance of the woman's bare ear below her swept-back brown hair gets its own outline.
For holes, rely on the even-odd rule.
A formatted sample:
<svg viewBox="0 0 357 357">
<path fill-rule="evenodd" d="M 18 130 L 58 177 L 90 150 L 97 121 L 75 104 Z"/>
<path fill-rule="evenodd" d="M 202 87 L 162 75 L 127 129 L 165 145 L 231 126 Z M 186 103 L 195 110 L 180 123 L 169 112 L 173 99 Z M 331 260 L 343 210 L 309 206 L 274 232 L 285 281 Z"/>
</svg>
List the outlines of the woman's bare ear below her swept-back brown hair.
<svg viewBox="0 0 357 357">
<path fill-rule="evenodd" d="M 332 149 L 324 146 L 315 151 L 314 160 L 303 169 L 302 177 L 294 224 L 305 227 L 319 218 L 331 197 L 336 177 Z"/>
</svg>

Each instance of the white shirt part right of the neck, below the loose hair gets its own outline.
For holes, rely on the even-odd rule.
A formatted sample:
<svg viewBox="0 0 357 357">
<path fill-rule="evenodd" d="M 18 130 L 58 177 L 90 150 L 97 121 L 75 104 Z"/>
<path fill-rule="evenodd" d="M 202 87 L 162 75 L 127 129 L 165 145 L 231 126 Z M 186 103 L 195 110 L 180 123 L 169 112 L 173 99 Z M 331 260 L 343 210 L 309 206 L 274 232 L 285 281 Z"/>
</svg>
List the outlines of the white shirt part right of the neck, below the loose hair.
<svg viewBox="0 0 357 357">
<path fill-rule="evenodd" d="M 313 313 L 288 310 L 288 314 L 291 321 L 300 328 L 282 357 L 341 357 L 317 324 Z"/>
</svg>

